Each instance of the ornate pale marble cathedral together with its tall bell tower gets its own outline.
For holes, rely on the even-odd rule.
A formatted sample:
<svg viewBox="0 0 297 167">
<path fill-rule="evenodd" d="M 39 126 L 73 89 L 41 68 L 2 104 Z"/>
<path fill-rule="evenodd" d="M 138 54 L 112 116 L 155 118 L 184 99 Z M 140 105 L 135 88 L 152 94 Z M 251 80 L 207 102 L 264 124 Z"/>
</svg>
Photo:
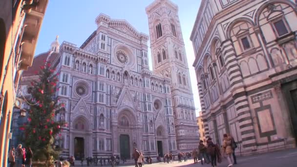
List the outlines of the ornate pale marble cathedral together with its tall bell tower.
<svg viewBox="0 0 297 167">
<path fill-rule="evenodd" d="M 96 18 L 97 29 L 82 46 L 56 40 L 42 54 L 60 74 L 57 96 L 65 107 L 56 119 L 68 123 L 56 139 L 62 156 L 131 158 L 137 147 L 156 157 L 197 147 L 178 8 L 170 0 L 156 0 L 146 10 L 153 71 L 148 35 L 105 14 Z"/>
</svg>

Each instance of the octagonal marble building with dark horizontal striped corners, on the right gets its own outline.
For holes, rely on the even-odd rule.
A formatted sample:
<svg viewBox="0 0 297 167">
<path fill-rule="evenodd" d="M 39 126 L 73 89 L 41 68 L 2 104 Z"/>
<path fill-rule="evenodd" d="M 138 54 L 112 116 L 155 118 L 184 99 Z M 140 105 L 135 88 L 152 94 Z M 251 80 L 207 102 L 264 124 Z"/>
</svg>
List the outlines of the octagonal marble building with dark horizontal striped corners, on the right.
<svg viewBox="0 0 297 167">
<path fill-rule="evenodd" d="M 294 0 L 203 0 L 191 33 L 206 137 L 236 153 L 296 146 Z"/>
</svg>

